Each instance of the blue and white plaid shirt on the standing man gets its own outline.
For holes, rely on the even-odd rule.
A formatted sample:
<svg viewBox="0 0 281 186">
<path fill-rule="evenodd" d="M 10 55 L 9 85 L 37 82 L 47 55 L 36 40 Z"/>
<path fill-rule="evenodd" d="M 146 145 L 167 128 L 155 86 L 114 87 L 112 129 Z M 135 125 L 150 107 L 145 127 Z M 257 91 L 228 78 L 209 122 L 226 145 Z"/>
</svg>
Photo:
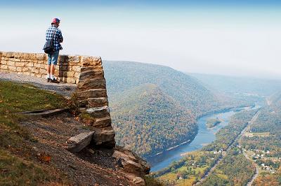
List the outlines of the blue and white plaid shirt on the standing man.
<svg viewBox="0 0 281 186">
<path fill-rule="evenodd" d="M 55 36 L 53 36 L 54 30 Z M 63 42 L 63 34 L 61 33 L 60 29 L 58 29 L 54 25 L 51 25 L 51 27 L 46 30 L 46 41 L 50 41 L 52 38 L 55 51 L 63 50 L 63 47 L 60 45 L 60 43 Z"/>
</svg>

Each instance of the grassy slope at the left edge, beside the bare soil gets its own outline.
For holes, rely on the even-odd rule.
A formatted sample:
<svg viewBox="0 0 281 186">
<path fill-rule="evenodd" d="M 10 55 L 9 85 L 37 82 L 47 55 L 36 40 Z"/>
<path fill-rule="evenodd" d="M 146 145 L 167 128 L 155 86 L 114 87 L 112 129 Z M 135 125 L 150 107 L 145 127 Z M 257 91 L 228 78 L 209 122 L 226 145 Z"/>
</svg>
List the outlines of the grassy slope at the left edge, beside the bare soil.
<svg viewBox="0 0 281 186">
<path fill-rule="evenodd" d="M 62 108 L 66 104 L 58 94 L 28 84 L 0 81 L 0 185 L 64 183 L 53 167 L 38 162 L 27 143 L 37 141 L 19 124 L 27 118 L 17 113 Z"/>
</svg>

